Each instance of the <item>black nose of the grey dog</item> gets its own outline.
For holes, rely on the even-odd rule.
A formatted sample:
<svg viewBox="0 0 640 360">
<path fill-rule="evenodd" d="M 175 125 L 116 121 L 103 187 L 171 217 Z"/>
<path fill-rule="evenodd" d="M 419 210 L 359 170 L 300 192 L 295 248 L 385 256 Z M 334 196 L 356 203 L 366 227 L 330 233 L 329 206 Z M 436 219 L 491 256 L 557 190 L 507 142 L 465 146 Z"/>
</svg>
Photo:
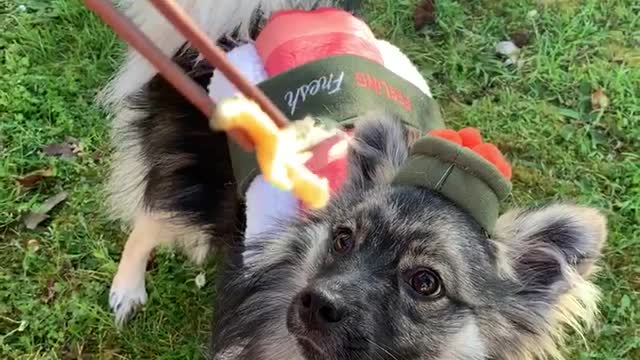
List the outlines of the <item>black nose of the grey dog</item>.
<svg viewBox="0 0 640 360">
<path fill-rule="evenodd" d="M 298 295 L 298 316 L 312 329 L 327 329 L 345 316 L 344 305 L 322 290 L 308 289 Z"/>
</svg>

